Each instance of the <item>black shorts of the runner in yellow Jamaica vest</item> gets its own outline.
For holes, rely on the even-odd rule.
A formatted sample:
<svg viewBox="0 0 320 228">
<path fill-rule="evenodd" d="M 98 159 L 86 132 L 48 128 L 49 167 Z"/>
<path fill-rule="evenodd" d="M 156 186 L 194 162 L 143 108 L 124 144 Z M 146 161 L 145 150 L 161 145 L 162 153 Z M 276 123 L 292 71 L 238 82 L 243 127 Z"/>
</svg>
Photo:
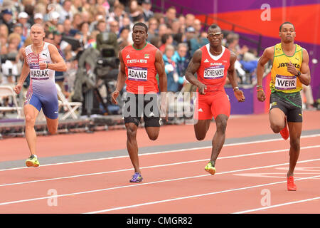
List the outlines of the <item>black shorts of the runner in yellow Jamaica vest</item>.
<svg viewBox="0 0 320 228">
<path fill-rule="evenodd" d="M 270 110 L 279 108 L 287 116 L 288 122 L 302 122 L 302 98 L 300 92 L 274 92 L 270 95 Z"/>
</svg>

